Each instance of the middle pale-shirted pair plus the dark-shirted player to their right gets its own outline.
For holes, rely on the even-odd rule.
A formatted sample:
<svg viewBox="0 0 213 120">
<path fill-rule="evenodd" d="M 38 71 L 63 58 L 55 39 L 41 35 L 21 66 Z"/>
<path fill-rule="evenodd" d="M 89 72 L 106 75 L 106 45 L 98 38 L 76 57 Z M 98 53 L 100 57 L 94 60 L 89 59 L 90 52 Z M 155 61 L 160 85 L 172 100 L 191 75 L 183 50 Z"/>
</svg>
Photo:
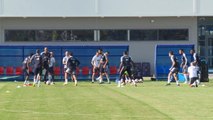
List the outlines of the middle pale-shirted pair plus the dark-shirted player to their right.
<svg viewBox="0 0 213 120">
<path fill-rule="evenodd" d="M 95 81 L 95 75 L 98 74 L 99 77 L 96 79 L 100 84 L 103 83 L 103 76 L 106 76 L 107 82 L 110 84 L 110 79 L 108 75 L 109 68 L 109 52 L 103 53 L 102 49 L 98 49 L 96 54 L 93 56 L 91 64 L 93 66 L 92 70 L 92 83 Z M 135 76 L 132 72 L 134 69 L 134 62 L 132 58 L 128 55 L 127 51 L 123 52 L 123 56 L 120 58 L 119 66 L 119 82 L 118 87 L 123 87 L 126 83 L 132 83 L 137 86 Z"/>
</svg>

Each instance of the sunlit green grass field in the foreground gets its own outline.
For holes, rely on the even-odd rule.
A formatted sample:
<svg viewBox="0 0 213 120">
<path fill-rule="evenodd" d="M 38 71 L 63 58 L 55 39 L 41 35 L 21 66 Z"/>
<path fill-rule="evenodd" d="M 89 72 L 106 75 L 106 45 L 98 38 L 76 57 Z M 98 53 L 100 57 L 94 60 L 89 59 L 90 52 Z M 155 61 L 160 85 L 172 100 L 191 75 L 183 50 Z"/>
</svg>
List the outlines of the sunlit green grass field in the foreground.
<svg viewBox="0 0 213 120">
<path fill-rule="evenodd" d="M 79 82 L 21 87 L 0 82 L 0 120 L 212 120 L 213 82 L 190 88 L 145 81 L 138 87 Z"/>
</svg>

